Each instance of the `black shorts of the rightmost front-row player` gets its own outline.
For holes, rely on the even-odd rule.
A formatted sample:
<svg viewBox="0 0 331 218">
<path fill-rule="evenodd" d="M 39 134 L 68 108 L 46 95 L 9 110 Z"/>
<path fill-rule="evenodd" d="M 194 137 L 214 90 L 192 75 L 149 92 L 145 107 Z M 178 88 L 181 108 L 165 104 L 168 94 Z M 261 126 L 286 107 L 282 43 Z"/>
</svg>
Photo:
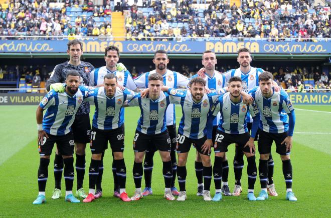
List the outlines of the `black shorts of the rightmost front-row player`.
<svg viewBox="0 0 331 218">
<path fill-rule="evenodd" d="M 288 135 L 287 131 L 282 133 L 270 133 L 259 129 L 258 132 L 259 132 L 259 140 L 257 141 L 257 145 L 259 148 L 259 152 L 261 154 L 266 154 L 271 152 L 271 145 L 273 141 L 275 141 L 277 153 L 279 153 L 280 155 L 290 154 L 290 152 L 286 150 L 285 143 L 281 144 L 281 142 L 283 142 L 283 140 Z"/>
</svg>

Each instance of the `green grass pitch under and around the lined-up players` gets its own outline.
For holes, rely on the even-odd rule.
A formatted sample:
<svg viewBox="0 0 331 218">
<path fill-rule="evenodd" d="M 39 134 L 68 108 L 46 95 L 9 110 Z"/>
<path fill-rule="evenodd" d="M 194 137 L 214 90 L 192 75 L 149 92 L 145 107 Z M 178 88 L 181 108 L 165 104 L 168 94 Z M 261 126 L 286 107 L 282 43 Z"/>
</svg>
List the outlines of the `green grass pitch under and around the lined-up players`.
<svg viewBox="0 0 331 218">
<path fill-rule="evenodd" d="M 275 161 L 274 181 L 278 197 L 269 197 L 265 201 L 246 200 L 247 173 L 246 160 L 242 176 L 243 192 L 241 196 L 223 197 L 220 202 L 204 202 L 196 196 L 197 179 L 194 170 L 195 150 L 192 148 L 187 163 L 187 193 L 185 202 L 167 201 L 163 198 L 164 183 L 161 160 L 154 155 L 152 176 L 153 195 L 135 202 L 122 202 L 112 196 L 113 179 L 111 172 L 111 154 L 109 149 L 104 158 L 103 196 L 92 203 L 72 204 L 64 201 L 64 196 L 52 200 L 54 188 L 53 165 L 54 152 L 49 166 L 49 179 L 46 187 L 46 203 L 33 205 L 38 194 L 37 170 L 39 154 L 37 151 L 36 106 L 1 106 L 1 142 L 0 142 L 0 216 L 124 216 L 124 217 L 205 217 L 205 216 L 264 216 L 264 217 L 307 217 L 330 216 L 331 214 L 331 106 L 296 106 L 296 127 L 291 153 L 293 165 L 293 191 L 297 202 L 285 200 L 285 182 L 281 160 L 272 147 Z M 315 111 L 312 111 L 315 110 Z M 93 111 L 93 109 L 91 109 Z M 181 116 L 177 107 L 177 121 Z M 91 117 L 93 112 L 91 112 Z M 126 108 L 125 111 L 125 151 L 127 167 L 126 190 L 131 196 L 134 192 L 132 177 L 133 151 L 132 140 L 136 128 L 139 109 Z M 229 185 L 233 189 L 234 145 L 229 146 Z M 86 168 L 90 163 L 90 149 L 86 148 Z M 257 163 L 258 163 L 257 154 Z M 212 155 L 212 161 L 214 157 Z M 176 185 L 178 182 L 176 180 Z M 62 194 L 64 195 L 64 179 Z M 144 180 L 142 179 L 142 188 Z M 76 180 L 74 181 L 74 190 Z M 88 170 L 85 172 L 84 189 L 88 191 Z M 255 195 L 260 191 L 257 179 Z M 214 182 L 211 185 L 212 196 L 215 193 Z"/>
</svg>

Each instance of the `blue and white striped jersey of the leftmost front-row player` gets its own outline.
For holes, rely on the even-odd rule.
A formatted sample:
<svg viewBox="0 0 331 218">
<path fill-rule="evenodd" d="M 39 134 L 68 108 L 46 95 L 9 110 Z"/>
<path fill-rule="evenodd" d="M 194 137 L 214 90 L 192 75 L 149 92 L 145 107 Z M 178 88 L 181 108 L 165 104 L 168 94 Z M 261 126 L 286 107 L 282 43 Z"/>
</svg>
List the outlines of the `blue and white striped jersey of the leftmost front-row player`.
<svg viewBox="0 0 331 218">
<path fill-rule="evenodd" d="M 71 131 L 75 114 L 88 93 L 87 86 L 79 86 L 74 96 L 51 89 L 40 102 L 47 109 L 43 117 L 43 128 L 48 134 L 65 135 Z"/>
</svg>

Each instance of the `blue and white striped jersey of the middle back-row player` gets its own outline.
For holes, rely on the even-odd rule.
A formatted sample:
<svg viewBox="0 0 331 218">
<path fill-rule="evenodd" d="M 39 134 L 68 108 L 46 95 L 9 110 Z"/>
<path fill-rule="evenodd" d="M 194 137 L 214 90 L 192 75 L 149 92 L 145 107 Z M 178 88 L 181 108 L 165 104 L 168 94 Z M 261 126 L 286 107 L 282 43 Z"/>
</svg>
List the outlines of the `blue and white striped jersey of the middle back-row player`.
<svg viewBox="0 0 331 218">
<path fill-rule="evenodd" d="M 156 70 L 152 70 L 150 72 L 145 72 L 134 79 L 138 88 L 147 88 L 148 87 L 148 75 L 151 73 L 155 73 Z M 163 84 L 172 87 L 172 88 L 179 88 L 179 87 L 187 87 L 189 84 L 190 79 L 179 72 L 175 72 L 172 70 L 167 69 L 167 72 L 163 75 Z M 173 125 L 176 123 L 176 114 L 175 114 L 175 105 L 169 105 L 167 109 L 167 113 L 165 114 L 167 119 L 167 125 Z"/>
</svg>

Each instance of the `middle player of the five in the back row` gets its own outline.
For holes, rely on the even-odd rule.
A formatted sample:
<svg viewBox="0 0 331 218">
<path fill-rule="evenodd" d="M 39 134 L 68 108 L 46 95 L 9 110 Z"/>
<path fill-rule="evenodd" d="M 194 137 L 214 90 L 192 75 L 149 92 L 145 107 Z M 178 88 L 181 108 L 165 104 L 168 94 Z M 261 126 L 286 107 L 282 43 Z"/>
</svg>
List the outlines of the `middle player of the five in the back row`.
<svg viewBox="0 0 331 218">
<path fill-rule="evenodd" d="M 155 69 L 141 74 L 139 77 L 134 79 L 137 87 L 139 88 L 147 88 L 148 86 L 148 76 L 153 73 L 159 73 L 162 75 L 163 84 L 167 85 L 172 88 L 179 88 L 179 87 L 187 87 L 189 83 L 189 78 L 178 73 L 176 71 L 172 71 L 167 69 L 167 65 L 169 63 L 168 54 L 164 50 L 157 50 L 154 53 L 153 63 L 155 64 Z M 169 131 L 169 136 L 172 142 L 171 146 L 171 161 L 173 166 L 173 180 L 172 180 L 172 192 L 174 195 L 178 195 L 179 192 L 175 187 L 175 179 L 176 179 L 176 171 L 177 171 L 177 160 L 176 160 L 176 114 L 175 114 L 175 104 L 170 104 L 167 113 L 165 115 L 167 120 L 167 129 Z M 144 196 L 148 194 L 152 194 L 151 189 L 151 175 L 153 169 L 153 155 L 155 152 L 155 148 L 149 146 L 146 150 L 146 156 L 144 159 L 144 178 L 145 178 L 145 189 L 143 190 L 142 194 Z"/>
</svg>

